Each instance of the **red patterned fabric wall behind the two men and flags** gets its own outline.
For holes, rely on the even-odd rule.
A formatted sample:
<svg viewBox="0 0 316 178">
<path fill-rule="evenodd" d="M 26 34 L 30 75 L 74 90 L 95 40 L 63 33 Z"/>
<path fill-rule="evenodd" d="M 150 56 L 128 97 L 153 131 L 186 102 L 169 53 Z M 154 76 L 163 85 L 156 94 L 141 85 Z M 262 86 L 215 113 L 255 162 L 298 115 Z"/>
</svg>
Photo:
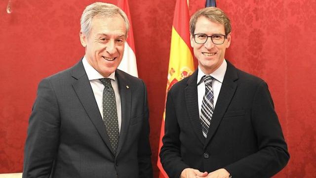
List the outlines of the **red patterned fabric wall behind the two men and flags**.
<svg viewBox="0 0 316 178">
<path fill-rule="evenodd" d="M 116 4 L 116 0 L 104 0 Z M 129 0 L 139 77 L 149 91 L 155 177 L 175 0 Z M 40 79 L 84 54 L 79 19 L 93 0 L 0 1 L 0 173 L 21 172 Z M 191 0 L 190 14 L 205 0 Z M 269 84 L 291 158 L 277 178 L 316 175 L 316 0 L 217 0 L 232 21 L 226 58 Z M 197 66 L 196 66 L 197 67 Z"/>
</svg>

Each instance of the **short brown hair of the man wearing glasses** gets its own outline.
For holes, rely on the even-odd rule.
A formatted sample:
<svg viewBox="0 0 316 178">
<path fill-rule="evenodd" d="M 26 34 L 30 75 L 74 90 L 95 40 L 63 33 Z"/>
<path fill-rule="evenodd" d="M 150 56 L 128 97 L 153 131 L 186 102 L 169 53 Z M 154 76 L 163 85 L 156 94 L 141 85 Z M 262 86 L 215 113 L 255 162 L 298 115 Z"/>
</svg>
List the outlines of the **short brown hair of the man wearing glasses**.
<svg viewBox="0 0 316 178">
<path fill-rule="evenodd" d="M 197 19 L 200 16 L 204 16 L 212 22 L 223 24 L 225 29 L 225 35 L 231 33 L 231 21 L 225 12 L 217 7 L 206 7 L 198 10 L 191 16 L 190 19 L 190 33 L 194 35 L 194 31 L 196 30 Z"/>
</svg>

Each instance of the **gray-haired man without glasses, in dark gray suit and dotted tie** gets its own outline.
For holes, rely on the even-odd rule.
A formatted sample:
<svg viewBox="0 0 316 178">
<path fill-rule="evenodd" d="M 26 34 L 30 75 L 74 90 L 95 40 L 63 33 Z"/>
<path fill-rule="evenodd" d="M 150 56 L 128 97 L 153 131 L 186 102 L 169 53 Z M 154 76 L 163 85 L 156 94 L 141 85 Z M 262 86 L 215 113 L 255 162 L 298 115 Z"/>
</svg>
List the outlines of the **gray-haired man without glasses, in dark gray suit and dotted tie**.
<svg viewBox="0 0 316 178">
<path fill-rule="evenodd" d="M 113 4 L 85 8 L 84 57 L 39 84 L 23 178 L 153 177 L 146 87 L 117 69 L 128 29 Z"/>
</svg>

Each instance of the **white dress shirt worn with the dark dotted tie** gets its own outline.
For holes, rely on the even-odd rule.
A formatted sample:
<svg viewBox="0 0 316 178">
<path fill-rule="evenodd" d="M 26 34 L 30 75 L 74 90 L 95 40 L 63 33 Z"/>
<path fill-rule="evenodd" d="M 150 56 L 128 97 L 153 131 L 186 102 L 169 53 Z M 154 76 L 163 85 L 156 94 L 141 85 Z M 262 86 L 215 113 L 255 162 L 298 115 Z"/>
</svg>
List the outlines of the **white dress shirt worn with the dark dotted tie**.
<svg viewBox="0 0 316 178">
<path fill-rule="evenodd" d="M 98 108 L 100 111 L 100 114 L 103 118 L 103 107 L 102 107 L 102 101 L 103 101 L 103 89 L 105 88 L 104 85 L 101 83 L 99 79 L 105 78 L 103 77 L 97 70 L 95 70 L 87 61 L 86 57 L 84 56 L 82 59 L 83 67 L 85 70 L 85 73 L 88 76 L 88 79 L 90 81 L 91 88 L 93 90 L 93 94 L 95 97 L 95 100 L 98 104 Z M 115 99 L 117 102 L 117 111 L 118 111 L 118 131 L 120 132 L 120 126 L 122 123 L 122 115 L 121 115 L 121 106 L 120 106 L 120 95 L 118 90 L 118 80 L 115 78 L 115 72 L 112 73 L 109 77 L 111 79 L 111 84 L 114 89 L 115 93 Z"/>
</svg>

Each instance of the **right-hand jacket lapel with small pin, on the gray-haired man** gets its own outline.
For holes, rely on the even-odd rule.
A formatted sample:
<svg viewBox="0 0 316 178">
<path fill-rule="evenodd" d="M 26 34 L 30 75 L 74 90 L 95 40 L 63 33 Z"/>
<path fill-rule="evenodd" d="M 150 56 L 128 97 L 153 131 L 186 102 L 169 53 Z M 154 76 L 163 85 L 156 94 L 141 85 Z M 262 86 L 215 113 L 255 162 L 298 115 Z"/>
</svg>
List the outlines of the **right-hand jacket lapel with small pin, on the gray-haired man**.
<svg viewBox="0 0 316 178">
<path fill-rule="evenodd" d="M 120 127 L 119 139 L 118 139 L 118 151 L 122 149 L 126 134 L 128 133 L 129 121 L 131 116 L 131 89 L 133 87 L 125 78 L 125 74 L 122 71 L 116 70 L 116 77 L 118 79 L 118 89 L 120 94 L 120 104 L 122 113 L 122 122 Z M 117 154 L 118 155 L 118 154 Z"/>
</svg>

